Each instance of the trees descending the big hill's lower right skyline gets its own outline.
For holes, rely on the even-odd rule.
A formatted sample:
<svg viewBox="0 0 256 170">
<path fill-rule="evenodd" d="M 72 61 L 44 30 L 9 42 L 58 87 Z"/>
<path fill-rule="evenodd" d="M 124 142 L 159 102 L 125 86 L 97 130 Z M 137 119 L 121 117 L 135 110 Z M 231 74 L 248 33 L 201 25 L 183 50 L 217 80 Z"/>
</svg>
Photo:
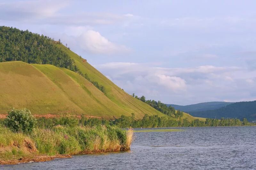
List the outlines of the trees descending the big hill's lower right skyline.
<svg viewBox="0 0 256 170">
<path fill-rule="evenodd" d="M 155 101 L 155 100 L 146 100 L 145 96 L 135 96 L 135 94 L 132 94 L 132 97 L 147 103 L 149 106 L 154 107 L 156 110 L 160 111 L 161 113 L 168 115 L 168 116 L 172 116 L 175 118 L 179 118 L 183 116 L 183 112 L 181 112 L 180 110 L 175 111 L 174 107 L 169 106 L 167 107 L 164 103 L 162 103 L 161 101 Z"/>
</svg>

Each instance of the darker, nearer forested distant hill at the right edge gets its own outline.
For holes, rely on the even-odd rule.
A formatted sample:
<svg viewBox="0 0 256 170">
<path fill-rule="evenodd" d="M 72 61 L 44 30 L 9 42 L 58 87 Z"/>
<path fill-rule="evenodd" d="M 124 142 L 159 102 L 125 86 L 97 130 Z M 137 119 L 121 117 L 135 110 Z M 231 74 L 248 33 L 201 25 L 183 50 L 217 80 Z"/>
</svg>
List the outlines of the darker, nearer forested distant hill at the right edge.
<svg viewBox="0 0 256 170">
<path fill-rule="evenodd" d="M 247 118 L 249 121 L 256 121 L 256 101 L 236 102 L 219 109 L 206 110 L 200 112 L 190 112 L 193 116 L 207 118 Z"/>
</svg>

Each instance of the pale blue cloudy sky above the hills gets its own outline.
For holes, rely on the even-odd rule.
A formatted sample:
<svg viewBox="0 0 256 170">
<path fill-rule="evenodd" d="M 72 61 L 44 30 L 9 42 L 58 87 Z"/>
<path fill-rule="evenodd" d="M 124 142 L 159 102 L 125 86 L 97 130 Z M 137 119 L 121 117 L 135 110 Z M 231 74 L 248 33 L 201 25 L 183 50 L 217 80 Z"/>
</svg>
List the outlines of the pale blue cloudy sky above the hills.
<svg viewBox="0 0 256 170">
<path fill-rule="evenodd" d="M 252 101 L 255 7 L 255 0 L 0 0 L 0 25 L 60 39 L 147 100 Z"/>
</svg>

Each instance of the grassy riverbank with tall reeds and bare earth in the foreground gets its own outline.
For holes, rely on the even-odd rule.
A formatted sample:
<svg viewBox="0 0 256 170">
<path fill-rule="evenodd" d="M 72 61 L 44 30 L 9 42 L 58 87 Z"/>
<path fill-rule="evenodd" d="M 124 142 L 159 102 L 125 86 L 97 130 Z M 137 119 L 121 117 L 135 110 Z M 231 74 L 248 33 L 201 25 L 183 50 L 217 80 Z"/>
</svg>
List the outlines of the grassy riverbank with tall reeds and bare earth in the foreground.
<svg viewBox="0 0 256 170">
<path fill-rule="evenodd" d="M 61 157 L 56 155 L 114 152 L 130 150 L 132 130 L 116 126 L 64 127 L 35 129 L 30 135 L 13 133 L 0 127 L 0 164 L 12 164 Z M 55 156 L 55 157 L 54 157 Z M 44 159 L 39 159 L 44 161 Z"/>
</svg>

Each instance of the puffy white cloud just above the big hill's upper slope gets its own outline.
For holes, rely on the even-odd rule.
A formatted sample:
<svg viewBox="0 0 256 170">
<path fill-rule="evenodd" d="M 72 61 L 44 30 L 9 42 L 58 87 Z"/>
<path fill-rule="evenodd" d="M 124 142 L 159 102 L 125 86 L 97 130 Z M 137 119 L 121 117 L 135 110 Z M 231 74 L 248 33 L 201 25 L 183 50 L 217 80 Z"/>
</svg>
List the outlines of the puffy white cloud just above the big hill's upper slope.
<svg viewBox="0 0 256 170">
<path fill-rule="evenodd" d="M 97 56 L 109 57 L 126 54 L 131 51 L 130 48 L 124 45 L 108 40 L 100 32 L 93 30 L 91 26 L 69 26 L 64 29 L 63 33 L 46 32 L 44 34 L 48 36 L 52 34 L 52 37 L 57 40 L 60 38 L 63 44 L 67 43 L 72 51 L 75 51 L 77 54 L 83 54 L 83 56 L 95 54 Z"/>
</svg>

